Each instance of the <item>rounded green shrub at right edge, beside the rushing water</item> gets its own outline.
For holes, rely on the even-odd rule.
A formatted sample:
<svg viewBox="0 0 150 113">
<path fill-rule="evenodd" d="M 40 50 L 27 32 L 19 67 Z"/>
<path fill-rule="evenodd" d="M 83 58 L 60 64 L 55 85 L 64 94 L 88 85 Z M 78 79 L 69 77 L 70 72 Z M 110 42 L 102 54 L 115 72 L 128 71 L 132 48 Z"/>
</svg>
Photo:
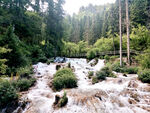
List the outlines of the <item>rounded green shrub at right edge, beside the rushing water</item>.
<svg viewBox="0 0 150 113">
<path fill-rule="evenodd" d="M 138 78 L 144 83 L 150 83 L 150 70 L 141 70 L 138 72 Z"/>
</svg>

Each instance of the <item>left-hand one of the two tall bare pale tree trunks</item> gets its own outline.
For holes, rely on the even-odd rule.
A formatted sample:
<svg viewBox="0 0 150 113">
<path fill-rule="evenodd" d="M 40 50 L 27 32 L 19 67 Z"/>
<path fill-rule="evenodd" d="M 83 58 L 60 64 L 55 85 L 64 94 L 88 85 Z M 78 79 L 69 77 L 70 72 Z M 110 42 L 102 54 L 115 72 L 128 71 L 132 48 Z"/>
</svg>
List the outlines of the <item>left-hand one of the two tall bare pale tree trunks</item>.
<svg viewBox="0 0 150 113">
<path fill-rule="evenodd" d="M 121 14 L 121 0 L 119 0 L 119 30 L 120 30 L 120 66 L 122 67 L 122 14 Z"/>
</svg>

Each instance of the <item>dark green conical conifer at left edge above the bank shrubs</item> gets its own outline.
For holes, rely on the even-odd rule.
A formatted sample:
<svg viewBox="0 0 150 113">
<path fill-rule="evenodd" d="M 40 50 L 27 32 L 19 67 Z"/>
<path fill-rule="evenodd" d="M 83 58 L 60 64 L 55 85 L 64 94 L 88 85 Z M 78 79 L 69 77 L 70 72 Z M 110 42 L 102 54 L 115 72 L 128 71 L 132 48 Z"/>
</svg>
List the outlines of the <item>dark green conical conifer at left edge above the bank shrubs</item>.
<svg viewBox="0 0 150 113">
<path fill-rule="evenodd" d="M 9 70 L 16 71 L 16 68 L 24 67 L 28 64 L 28 59 L 22 50 L 22 44 L 19 38 L 14 34 L 13 27 L 11 26 L 2 38 L 1 45 L 4 46 L 5 44 L 7 44 L 8 48 L 11 49 L 10 53 L 5 53 L 2 56 L 8 60 L 6 65 L 9 67 Z"/>
</svg>

